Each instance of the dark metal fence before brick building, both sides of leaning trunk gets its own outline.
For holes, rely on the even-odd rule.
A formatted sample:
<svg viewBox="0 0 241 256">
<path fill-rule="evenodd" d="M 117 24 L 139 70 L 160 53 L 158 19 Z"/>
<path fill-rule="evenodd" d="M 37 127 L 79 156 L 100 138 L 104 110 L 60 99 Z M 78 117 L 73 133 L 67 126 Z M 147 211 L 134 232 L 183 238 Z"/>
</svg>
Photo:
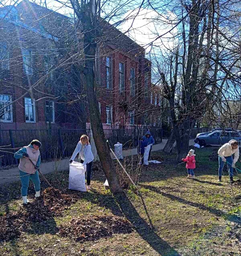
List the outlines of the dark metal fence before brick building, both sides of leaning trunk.
<svg viewBox="0 0 241 256">
<path fill-rule="evenodd" d="M 105 137 L 110 146 L 120 142 L 123 149 L 135 148 L 138 140 L 143 137 L 147 129 L 125 127 L 123 129 L 105 129 Z M 155 143 L 161 143 L 161 129 L 149 129 Z M 70 157 L 83 134 L 90 135 L 90 129 L 41 129 L 41 130 L 0 130 L 0 166 L 17 164 L 13 154 L 2 152 L 16 152 L 18 148 L 27 146 L 33 139 L 42 143 L 41 160 L 53 160 L 61 157 Z M 90 142 L 91 143 L 91 142 Z"/>
</svg>

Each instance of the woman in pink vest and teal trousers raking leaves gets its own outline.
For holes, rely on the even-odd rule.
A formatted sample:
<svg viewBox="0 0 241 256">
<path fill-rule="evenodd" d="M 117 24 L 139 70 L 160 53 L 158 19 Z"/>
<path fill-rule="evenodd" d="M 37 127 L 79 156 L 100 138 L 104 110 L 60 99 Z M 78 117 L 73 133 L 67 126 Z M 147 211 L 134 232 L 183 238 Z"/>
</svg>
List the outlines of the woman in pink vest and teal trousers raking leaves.
<svg viewBox="0 0 241 256">
<path fill-rule="evenodd" d="M 41 142 L 37 139 L 34 139 L 29 146 L 25 146 L 18 150 L 14 154 L 14 158 L 20 159 L 18 169 L 20 181 L 22 184 L 21 194 L 22 194 L 22 202 L 23 204 L 27 204 L 29 201 L 27 200 L 28 188 L 29 188 L 29 179 L 33 181 L 34 189 L 35 189 L 35 198 L 40 196 L 40 179 L 38 169 L 41 163 L 41 157 L 39 148 L 41 147 Z M 35 166 L 31 163 L 31 161 Z"/>
</svg>

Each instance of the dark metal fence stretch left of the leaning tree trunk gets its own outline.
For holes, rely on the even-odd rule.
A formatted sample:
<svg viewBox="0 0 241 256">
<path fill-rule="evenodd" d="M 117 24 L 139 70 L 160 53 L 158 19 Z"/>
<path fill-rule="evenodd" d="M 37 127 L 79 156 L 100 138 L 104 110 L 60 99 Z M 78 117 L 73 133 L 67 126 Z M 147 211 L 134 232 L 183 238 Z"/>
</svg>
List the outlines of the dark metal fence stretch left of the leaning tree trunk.
<svg viewBox="0 0 241 256">
<path fill-rule="evenodd" d="M 27 146 L 33 139 L 42 143 L 41 160 L 69 157 L 82 134 L 89 131 L 82 129 L 49 129 L 49 130 L 0 130 L 0 150 L 16 152 Z M 14 150 L 15 149 L 15 150 Z M 13 154 L 0 152 L 0 166 L 17 164 Z"/>
</svg>

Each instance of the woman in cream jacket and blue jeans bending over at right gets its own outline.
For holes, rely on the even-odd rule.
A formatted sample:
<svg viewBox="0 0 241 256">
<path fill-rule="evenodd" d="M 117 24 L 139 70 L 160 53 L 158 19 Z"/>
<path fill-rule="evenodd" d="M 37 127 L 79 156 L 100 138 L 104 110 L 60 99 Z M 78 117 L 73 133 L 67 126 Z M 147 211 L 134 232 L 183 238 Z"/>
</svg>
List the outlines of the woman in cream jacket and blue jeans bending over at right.
<svg viewBox="0 0 241 256">
<path fill-rule="evenodd" d="M 219 182 L 222 179 L 222 172 L 225 162 L 228 164 L 230 181 L 233 182 L 233 168 L 239 160 L 239 143 L 235 139 L 231 139 L 229 143 L 224 144 L 218 151 L 219 154 Z M 234 154 L 234 158 L 232 155 Z"/>
</svg>

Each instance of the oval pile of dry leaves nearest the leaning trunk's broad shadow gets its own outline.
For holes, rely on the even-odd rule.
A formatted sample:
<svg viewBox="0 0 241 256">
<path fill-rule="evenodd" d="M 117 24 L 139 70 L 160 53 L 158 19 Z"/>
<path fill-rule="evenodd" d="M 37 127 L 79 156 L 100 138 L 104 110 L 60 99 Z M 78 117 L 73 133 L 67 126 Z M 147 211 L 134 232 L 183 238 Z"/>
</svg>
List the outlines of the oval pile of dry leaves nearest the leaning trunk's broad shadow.
<svg viewBox="0 0 241 256">
<path fill-rule="evenodd" d="M 76 241 L 94 241 L 114 233 L 131 233 L 131 223 L 117 216 L 105 216 L 95 219 L 72 219 L 59 228 L 59 235 L 68 236 Z"/>
</svg>

